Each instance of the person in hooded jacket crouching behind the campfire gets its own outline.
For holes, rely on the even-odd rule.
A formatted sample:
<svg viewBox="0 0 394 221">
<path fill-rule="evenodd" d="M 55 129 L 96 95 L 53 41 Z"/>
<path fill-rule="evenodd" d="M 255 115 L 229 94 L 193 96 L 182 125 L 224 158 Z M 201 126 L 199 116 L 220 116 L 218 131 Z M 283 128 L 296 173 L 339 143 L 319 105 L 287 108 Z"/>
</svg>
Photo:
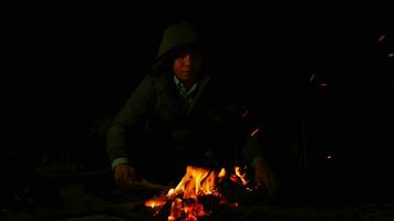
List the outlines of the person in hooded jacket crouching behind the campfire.
<svg viewBox="0 0 394 221">
<path fill-rule="evenodd" d="M 247 109 L 207 74 L 204 55 L 189 23 L 165 30 L 152 67 L 107 133 L 120 187 L 139 178 L 169 185 L 180 180 L 188 165 L 215 168 L 242 161 L 253 168 L 257 183 L 274 190 Z"/>
</svg>

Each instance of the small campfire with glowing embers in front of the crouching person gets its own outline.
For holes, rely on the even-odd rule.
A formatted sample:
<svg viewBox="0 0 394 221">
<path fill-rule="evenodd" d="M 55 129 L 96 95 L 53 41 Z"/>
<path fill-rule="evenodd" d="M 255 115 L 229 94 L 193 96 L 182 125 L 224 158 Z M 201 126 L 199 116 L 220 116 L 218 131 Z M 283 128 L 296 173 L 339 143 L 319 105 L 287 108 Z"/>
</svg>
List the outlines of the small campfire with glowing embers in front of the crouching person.
<svg viewBox="0 0 394 221">
<path fill-rule="evenodd" d="M 230 201 L 222 193 L 224 187 L 232 185 L 252 191 L 246 178 L 246 168 L 235 167 L 228 175 L 225 168 L 219 171 L 188 166 L 186 175 L 176 188 L 145 202 L 154 215 L 169 209 L 168 221 L 199 220 L 209 217 L 215 208 L 227 207 L 237 209 L 238 203 Z"/>
</svg>

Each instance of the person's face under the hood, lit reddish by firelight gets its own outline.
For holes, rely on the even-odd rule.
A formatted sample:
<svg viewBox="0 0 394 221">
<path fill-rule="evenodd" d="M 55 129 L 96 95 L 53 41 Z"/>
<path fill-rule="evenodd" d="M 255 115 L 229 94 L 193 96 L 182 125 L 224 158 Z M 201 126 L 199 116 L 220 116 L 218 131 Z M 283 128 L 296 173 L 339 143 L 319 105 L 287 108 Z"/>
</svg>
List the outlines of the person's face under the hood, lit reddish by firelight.
<svg viewBox="0 0 394 221">
<path fill-rule="evenodd" d="M 200 75 L 203 55 L 195 51 L 183 51 L 175 56 L 174 73 L 183 83 L 194 83 Z"/>
</svg>

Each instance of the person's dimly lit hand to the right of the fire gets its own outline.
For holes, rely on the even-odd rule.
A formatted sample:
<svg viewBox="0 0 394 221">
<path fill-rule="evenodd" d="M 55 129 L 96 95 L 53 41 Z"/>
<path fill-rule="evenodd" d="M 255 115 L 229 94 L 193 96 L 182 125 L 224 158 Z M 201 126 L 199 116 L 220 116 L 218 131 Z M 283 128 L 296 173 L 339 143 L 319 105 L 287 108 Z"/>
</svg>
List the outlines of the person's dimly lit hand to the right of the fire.
<svg viewBox="0 0 394 221">
<path fill-rule="evenodd" d="M 255 179 L 258 186 L 266 188 L 269 196 L 274 196 L 277 189 L 274 175 L 262 160 L 255 165 Z"/>
</svg>

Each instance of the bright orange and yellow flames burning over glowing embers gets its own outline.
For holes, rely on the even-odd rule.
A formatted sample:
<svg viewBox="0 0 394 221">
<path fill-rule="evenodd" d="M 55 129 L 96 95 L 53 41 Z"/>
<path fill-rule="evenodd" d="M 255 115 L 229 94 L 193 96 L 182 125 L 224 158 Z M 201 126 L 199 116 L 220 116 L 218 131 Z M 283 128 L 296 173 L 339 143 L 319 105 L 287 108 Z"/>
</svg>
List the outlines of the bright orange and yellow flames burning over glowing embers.
<svg viewBox="0 0 394 221">
<path fill-rule="evenodd" d="M 231 181 L 246 186 L 248 183 L 246 173 L 240 167 L 235 167 L 235 173 L 230 175 Z M 199 202 L 203 196 L 214 196 L 219 199 L 219 203 L 227 204 L 231 208 L 237 208 L 237 202 L 227 201 L 217 190 L 218 185 L 226 178 L 226 169 L 222 168 L 219 172 L 214 169 L 188 166 L 186 175 L 174 189 L 162 196 L 156 197 L 145 202 L 146 207 L 157 210 L 168 201 L 172 201 L 169 221 L 173 220 L 198 220 L 211 214 L 207 208 Z"/>
</svg>

